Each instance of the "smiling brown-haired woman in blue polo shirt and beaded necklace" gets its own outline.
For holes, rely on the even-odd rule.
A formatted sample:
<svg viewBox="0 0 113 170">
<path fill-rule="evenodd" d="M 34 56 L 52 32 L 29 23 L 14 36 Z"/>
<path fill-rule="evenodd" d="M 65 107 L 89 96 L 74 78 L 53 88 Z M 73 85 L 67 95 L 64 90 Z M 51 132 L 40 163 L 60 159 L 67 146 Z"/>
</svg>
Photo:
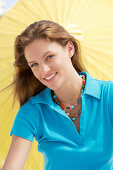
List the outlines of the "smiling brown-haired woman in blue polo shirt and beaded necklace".
<svg viewBox="0 0 113 170">
<path fill-rule="evenodd" d="M 52 21 L 16 38 L 14 92 L 20 109 L 3 170 L 21 170 L 32 141 L 45 170 L 113 169 L 113 82 L 93 79 L 79 43 Z"/>
</svg>

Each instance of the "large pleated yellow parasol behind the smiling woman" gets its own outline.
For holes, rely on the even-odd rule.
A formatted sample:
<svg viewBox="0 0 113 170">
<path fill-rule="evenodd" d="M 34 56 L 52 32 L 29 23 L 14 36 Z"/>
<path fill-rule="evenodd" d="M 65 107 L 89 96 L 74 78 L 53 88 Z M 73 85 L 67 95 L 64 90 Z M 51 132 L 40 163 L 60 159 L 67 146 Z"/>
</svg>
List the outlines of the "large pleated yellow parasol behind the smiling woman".
<svg viewBox="0 0 113 170">
<path fill-rule="evenodd" d="M 15 37 L 29 24 L 52 20 L 64 26 L 81 43 L 82 60 L 95 78 L 113 80 L 112 0 L 20 0 L 0 18 L 0 89 L 13 78 Z M 18 103 L 12 110 L 12 89 L 0 93 L 0 168 L 6 158 Z M 42 154 L 34 141 L 24 170 L 42 170 Z"/>
</svg>

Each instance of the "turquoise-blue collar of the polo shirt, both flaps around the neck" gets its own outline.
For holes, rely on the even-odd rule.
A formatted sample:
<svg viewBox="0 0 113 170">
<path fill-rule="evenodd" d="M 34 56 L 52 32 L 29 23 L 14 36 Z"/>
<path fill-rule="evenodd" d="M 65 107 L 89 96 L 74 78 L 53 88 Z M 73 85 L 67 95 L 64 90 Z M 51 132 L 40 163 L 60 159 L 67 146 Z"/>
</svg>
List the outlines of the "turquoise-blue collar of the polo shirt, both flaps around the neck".
<svg viewBox="0 0 113 170">
<path fill-rule="evenodd" d="M 97 99 L 100 99 L 101 89 L 98 81 L 91 77 L 87 72 L 79 72 L 78 74 L 86 75 L 86 85 L 83 94 L 90 95 Z M 30 100 L 32 104 L 36 103 L 43 103 L 48 105 L 53 104 L 51 90 L 48 87 L 41 91 L 38 95 L 31 97 Z"/>
</svg>

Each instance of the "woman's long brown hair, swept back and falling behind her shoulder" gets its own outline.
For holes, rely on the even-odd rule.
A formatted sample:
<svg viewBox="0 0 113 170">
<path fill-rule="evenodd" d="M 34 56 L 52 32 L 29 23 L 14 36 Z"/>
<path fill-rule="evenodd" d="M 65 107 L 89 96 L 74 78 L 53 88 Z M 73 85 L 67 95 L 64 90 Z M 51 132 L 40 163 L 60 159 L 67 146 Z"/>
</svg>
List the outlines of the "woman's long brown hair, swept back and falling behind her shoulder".
<svg viewBox="0 0 113 170">
<path fill-rule="evenodd" d="M 45 89 L 45 86 L 33 75 L 27 64 L 24 55 L 25 47 L 36 39 L 45 38 L 56 41 L 63 47 L 71 41 L 75 47 L 75 54 L 72 57 L 72 64 L 77 72 L 86 71 L 80 60 L 80 44 L 59 24 L 42 20 L 28 26 L 15 40 L 15 76 L 12 85 L 14 86 L 14 100 L 18 98 L 22 106 L 31 96 L 34 96 Z"/>
</svg>

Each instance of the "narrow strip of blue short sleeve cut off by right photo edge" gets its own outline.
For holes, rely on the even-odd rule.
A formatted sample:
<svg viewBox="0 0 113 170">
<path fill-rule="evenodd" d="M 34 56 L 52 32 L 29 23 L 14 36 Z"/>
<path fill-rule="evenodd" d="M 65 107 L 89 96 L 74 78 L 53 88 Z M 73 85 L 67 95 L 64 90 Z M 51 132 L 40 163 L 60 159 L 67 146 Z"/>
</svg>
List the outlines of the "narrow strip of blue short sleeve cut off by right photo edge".
<svg viewBox="0 0 113 170">
<path fill-rule="evenodd" d="M 109 83 L 109 99 L 108 99 L 109 112 L 113 121 L 113 81 Z"/>
</svg>

